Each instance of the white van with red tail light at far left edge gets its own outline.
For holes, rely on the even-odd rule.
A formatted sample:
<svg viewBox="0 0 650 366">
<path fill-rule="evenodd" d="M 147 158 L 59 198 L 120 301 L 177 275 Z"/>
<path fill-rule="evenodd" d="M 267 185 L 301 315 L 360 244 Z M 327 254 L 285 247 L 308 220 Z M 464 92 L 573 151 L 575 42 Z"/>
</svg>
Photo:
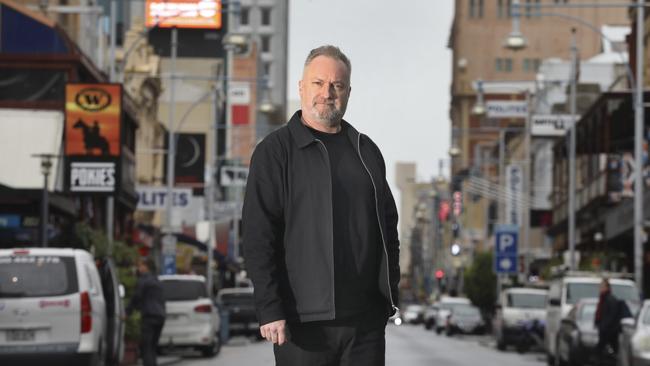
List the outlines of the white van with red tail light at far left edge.
<svg viewBox="0 0 650 366">
<path fill-rule="evenodd" d="M 0 249 L 0 364 L 9 364 L 5 357 L 104 364 L 105 305 L 87 251 Z"/>
</svg>

